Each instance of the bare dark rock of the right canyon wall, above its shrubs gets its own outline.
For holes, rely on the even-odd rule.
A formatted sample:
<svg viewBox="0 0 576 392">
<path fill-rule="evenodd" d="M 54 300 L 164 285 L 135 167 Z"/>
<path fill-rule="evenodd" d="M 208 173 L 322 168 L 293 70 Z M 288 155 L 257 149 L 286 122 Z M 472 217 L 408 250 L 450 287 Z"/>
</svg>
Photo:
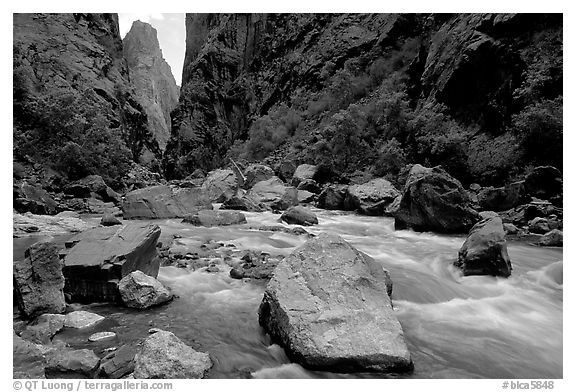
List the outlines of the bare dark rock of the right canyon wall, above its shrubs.
<svg viewBox="0 0 576 392">
<path fill-rule="evenodd" d="M 502 139 L 528 105 L 562 95 L 561 15 L 188 14 L 186 31 L 164 161 L 172 177 L 221 164 L 258 132 L 290 128 L 277 118 L 286 108 L 298 124 L 283 143 L 304 148 L 280 155 L 314 156 L 306 146 L 329 134 L 328 117 L 390 92 L 406 95 L 410 116 L 432 107 L 466 130 L 469 171 L 486 172 L 489 158 L 474 151 Z M 416 136 L 395 137 L 416 156 Z"/>
</svg>

